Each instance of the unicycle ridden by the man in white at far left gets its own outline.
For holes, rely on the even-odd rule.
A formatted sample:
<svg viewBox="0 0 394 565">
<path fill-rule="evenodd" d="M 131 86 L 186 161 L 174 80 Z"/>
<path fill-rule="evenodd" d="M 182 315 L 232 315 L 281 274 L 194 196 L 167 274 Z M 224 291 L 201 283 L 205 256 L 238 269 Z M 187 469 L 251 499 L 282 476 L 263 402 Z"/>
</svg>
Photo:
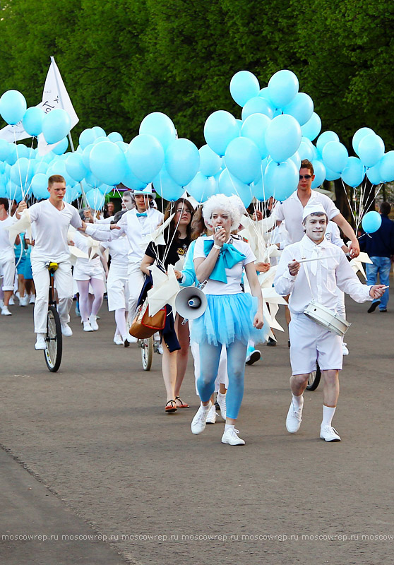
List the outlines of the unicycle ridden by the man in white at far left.
<svg viewBox="0 0 394 565">
<path fill-rule="evenodd" d="M 54 295 L 54 272 L 57 269 L 57 263 L 47 263 L 50 275 L 49 284 L 49 302 L 47 313 L 47 335 L 45 335 L 44 357 L 49 371 L 55 373 L 60 367 L 61 352 L 63 350 L 63 340 L 61 336 L 61 325 L 59 312 L 56 308 L 56 299 Z"/>
</svg>

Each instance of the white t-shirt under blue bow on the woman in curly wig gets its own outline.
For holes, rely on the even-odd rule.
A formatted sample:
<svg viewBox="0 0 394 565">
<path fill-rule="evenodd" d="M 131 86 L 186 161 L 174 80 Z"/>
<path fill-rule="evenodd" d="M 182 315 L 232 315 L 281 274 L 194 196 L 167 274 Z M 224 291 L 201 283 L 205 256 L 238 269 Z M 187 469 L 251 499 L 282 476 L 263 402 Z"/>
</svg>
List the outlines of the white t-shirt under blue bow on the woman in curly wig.
<svg viewBox="0 0 394 565">
<path fill-rule="evenodd" d="M 213 241 L 213 237 L 198 237 L 198 239 L 196 239 L 193 260 L 198 257 L 206 257 L 204 253 L 204 242 L 208 241 Z M 246 258 L 244 261 L 239 261 L 239 263 L 234 265 L 232 269 L 225 269 L 227 283 L 222 283 L 219 280 L 208 279 L 208 283 L 203 288 L 205 295 L 237 295 L 239 292 L 242 292 L 241 278 L 244 266 L 256 261 L 256 257 L 253 255 L 248 243 L 233 237 L 230 237 L 227 243 L 232 243 L 235 249 L 243 253 Z"/>
</svg>

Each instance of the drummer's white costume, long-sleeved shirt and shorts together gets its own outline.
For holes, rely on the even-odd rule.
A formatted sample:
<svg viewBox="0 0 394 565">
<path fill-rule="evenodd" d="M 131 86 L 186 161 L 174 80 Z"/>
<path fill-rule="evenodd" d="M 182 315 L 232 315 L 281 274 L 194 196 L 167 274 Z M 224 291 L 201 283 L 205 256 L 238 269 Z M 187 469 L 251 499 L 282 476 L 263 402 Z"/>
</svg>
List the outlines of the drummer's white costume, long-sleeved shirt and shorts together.
<svg viewBox="0 0 394 565">
<path fill-rule="evenodd" d="M 319 261 L 302 263 L 299 273 L 289 273 L 288 263 L 301 258 L 323 257 Z M 342 249 L 326 239 L 316 245 L 304 235 L 300 242 L 282 252 L 274 286 L 278 294 L 290 295 L 289 324 L 290 362 L 292 374 L 314 371 L 316 358 L 322 370 L 342 369 L 342 339 L 311 321 L 304 310 L 312 299 L 335 312 L 338 302 L 336 287 L 347 292 L 356 302 L 371 300 L 369 287 L 362 285 L 354 274 Z"/>
</svg>

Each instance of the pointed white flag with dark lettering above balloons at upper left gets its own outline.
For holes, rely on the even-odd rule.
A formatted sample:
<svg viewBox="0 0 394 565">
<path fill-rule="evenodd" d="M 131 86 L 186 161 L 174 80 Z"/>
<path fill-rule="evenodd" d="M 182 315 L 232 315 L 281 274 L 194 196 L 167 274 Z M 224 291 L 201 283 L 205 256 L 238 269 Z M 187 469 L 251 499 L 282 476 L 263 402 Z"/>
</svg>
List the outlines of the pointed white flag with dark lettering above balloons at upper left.
<svg viewBox="0 0 394 565">
<path fill-rule="evenodd" d="M 48 114 L 55 108 L 61 108 L 66 110 L 69 117 L 71 118 L 71 128 L 73 129 L 76 124 L 78 124 L 79 118 L 76 111 L 73 109 L 70 97 L 66 87 L 64 86 L 63 78 L 59 73 L 59 69 L 55 63 L 54 57 L 51 57 L 51 66 L 45 79 L 44 92 L 42 93 L 42 103 L 41 107 L 45 114 Z M 57 143 L 48 145 L 44 139 L 42 133 L 38 136 L 38 153 L 40 155 L 46 155 L 51 151 Z"/>
</svg>

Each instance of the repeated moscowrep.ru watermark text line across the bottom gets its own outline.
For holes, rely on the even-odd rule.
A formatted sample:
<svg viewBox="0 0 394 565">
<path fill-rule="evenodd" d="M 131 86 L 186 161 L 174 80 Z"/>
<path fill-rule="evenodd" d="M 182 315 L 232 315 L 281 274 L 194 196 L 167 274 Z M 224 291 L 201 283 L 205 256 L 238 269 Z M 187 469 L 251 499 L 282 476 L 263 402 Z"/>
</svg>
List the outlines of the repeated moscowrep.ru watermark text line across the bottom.
<svg viewBox="0 0 394 565">
<path fill-rule="evenodd" d="M 356 533 L 356 534 L 1 534 L 3 542 L 393 542 L 394 534 L 388 533 Z"/>
</svg>

